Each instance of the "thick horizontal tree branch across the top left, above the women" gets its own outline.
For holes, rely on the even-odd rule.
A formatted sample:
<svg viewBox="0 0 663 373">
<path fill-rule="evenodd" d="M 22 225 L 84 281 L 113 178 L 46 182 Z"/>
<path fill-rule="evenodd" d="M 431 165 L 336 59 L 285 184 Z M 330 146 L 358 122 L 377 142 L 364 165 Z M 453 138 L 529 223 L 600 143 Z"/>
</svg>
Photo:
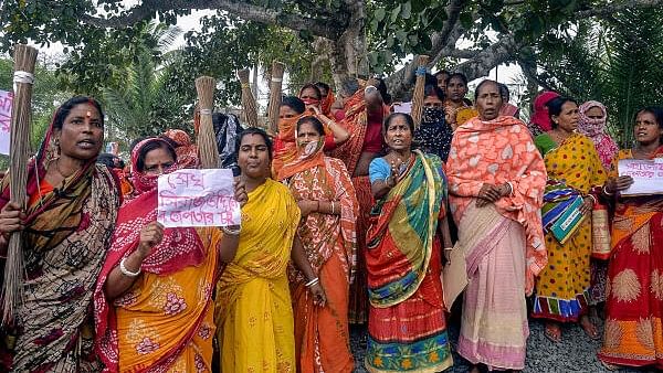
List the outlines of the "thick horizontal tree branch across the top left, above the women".
<svg viewBox="0 0 663 373">
<path fill-rule="evenodd" d="M 234 0 L 144 0 L 139 6 L 129 9 L 120 15 L 98 18 L 83 14 L 81 19 L 85 23 L 99 28 L 125 28 L 152 18 L 157 11 L 167 12 L 178 9 L 224 10 L 246 21 L 282 25 L 295 31 L 308 30 L 316 36 L 332 40 L 338 38 L 345 30 L 348 19 L 344 12 L 340 12 L 334 19 L 316 19 Z M 320 13 L 325 12 L 326 10 L 320 10 Z"/>
</svg>

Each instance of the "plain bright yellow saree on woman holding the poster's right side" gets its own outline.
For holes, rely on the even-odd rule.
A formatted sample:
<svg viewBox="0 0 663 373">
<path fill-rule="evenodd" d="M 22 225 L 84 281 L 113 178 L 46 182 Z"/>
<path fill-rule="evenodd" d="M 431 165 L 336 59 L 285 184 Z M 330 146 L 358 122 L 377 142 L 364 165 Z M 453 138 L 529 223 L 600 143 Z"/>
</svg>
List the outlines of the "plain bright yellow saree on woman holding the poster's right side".
<svg viewBox="0 0 663 373">
<path fill-rule="evenodd" d="M 295 372 L 286 269 L 299 215 L 290 190 L 271 179 L 249 193 L 238 253 L 217 287 L 223 372 Z"/>
</svg>

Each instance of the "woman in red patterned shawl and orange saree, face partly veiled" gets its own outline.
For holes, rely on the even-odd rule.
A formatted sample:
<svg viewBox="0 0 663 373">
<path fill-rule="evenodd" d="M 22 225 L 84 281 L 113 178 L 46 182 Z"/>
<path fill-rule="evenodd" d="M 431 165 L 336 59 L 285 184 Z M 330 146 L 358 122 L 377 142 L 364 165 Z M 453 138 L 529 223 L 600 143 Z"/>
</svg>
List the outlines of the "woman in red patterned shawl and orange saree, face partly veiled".
<svg viewBox="0 0 663 373">
<path fill-rule="evenodd" d="M 95 289 L 98 354 L 108 372 L 209 372 L 221 233 L 156 222 L 157 179 L 182 167 L 169 141 L 140 141 L 131 166 L 137 194 L 119 210 Z"/>
</svg>

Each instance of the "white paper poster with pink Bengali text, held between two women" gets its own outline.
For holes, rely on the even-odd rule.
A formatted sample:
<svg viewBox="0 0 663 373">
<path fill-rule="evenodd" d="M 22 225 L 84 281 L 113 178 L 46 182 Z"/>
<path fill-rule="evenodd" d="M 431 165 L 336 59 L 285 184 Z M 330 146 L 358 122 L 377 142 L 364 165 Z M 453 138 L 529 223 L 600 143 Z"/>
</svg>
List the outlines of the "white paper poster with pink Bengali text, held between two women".
<svg viewBox="0 0 663 373">
<path fill-rule="evenodd" d="M 178 170 L 158 180 L 157 221 L 166 227 L 240 225 L 232 170 Z"/>
</svg>

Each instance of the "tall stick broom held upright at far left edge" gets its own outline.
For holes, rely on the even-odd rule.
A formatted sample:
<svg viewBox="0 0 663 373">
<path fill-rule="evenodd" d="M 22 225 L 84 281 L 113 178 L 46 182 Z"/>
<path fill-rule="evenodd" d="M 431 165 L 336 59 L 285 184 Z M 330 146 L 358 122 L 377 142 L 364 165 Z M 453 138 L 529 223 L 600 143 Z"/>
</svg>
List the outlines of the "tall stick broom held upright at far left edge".
<svg viewBox="0 0 663 373">
<path fill-rule="evenodd" d="M 25 205 L 25 185 L 28 184 L 28 152 L 30 147 L 30 127 L 32 124 L 32 84 L 36 50 L 17 44 L 14 46 L 14 98 L 11 110 L 11 130 L 9 162 L 10 202 Z M 9 237 L 4 279 L 2 281 L 2 324 L 15 324 L 14 311 L 23 301 L 23 238 L 20 232 Z"/>
</svg>

